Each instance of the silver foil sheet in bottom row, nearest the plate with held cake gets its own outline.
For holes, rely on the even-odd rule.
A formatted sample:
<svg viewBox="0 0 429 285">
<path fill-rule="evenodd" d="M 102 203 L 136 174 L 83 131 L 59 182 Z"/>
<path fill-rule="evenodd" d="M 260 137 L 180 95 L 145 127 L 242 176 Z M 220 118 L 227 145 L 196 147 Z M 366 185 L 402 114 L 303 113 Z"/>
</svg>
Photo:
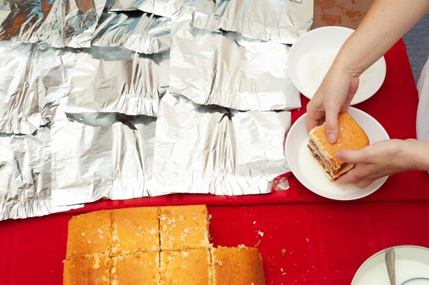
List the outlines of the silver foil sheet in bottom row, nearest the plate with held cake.
<svg viewBox="0 0 429 285">
<path fill-rule="evenodd" d="M 151 189 L 163 193 L 269 193 L 289 171 L 291 113 L 241 112 L 167 93 L 156 123 Z"/>
</svg>

